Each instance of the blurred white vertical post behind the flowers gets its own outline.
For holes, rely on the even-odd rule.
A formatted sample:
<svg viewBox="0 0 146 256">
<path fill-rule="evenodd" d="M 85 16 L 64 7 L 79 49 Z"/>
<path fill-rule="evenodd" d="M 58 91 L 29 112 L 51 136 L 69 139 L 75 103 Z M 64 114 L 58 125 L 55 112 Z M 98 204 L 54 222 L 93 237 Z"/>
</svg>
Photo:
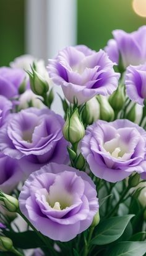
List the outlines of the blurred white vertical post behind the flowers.
<svg viewBox="0 0 146 256">
<path fill-rule="evenodd" d="M 26 53 L 53 58 L 59 50 L 77 42 L 77 0 L 26 0 Z M 61 94 L 59 86 L 55 92 Z M 56 96 L 53 110 L 62 114 L 61 102 Z"/>
</svg>

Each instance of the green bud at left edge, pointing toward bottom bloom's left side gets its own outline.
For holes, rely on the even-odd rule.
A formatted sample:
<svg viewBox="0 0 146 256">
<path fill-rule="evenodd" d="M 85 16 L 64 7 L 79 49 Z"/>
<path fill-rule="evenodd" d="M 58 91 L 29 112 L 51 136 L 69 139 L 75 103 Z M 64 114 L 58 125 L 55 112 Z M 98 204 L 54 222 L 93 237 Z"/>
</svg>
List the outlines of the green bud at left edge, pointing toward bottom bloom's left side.
<svg viewBox="0 0 146 256">
<path fill-rule="evenodd" d="M 17 198 L 9 196 L 9 194 L 0 192 L 0 201 L 2 201 L 2 205 L 11 213 L 15 213 L 19 209 L 19 201 Z"/>
</svg>

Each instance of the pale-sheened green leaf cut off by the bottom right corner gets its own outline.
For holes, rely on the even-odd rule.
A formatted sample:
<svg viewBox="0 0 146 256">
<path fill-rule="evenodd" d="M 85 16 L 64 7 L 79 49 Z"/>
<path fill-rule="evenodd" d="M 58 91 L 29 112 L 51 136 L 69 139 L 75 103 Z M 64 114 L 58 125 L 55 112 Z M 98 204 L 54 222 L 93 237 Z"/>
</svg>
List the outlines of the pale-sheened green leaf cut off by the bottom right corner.
<svg viewBox="0 0 146 256">
<path fill-rule="evenodd" d="M 145 242 L 120 242 L 112 246 L 105 256 L 143 256 L 145 252 Z"/>
</svg>

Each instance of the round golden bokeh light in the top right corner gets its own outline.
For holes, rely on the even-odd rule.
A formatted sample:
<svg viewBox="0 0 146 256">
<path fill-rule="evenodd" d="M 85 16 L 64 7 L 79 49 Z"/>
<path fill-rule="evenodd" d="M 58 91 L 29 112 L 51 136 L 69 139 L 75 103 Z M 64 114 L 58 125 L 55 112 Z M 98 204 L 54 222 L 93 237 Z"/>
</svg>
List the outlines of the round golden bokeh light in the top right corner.
<svg viewBox="0 0 146 256">
<path fill-rule="evenodd" d="M 132 6 L 136 14 L 146 17 L 146 0 L 133 0 Z"/>
</svg>

